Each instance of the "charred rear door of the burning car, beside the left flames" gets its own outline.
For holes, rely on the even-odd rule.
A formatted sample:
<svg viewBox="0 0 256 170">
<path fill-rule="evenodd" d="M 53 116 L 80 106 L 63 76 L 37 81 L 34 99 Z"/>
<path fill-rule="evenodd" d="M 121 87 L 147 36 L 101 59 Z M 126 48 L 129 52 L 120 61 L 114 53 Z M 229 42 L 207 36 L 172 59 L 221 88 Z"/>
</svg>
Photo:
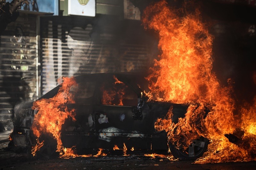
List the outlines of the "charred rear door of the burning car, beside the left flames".
<svg viewBox="0 0 256 170">
<path fill-rule="evenodd" d="M 64 147 L 95 148 L 95 121 L 93 109 L 95 107 L 94 92 L 97 82 L 84 78 L 70 90 L 75 103 L 69 103 L 70 109 L 75 109 L 76 121 L 68 118 L 62 126 L 61 139 Z"/>
</svg>

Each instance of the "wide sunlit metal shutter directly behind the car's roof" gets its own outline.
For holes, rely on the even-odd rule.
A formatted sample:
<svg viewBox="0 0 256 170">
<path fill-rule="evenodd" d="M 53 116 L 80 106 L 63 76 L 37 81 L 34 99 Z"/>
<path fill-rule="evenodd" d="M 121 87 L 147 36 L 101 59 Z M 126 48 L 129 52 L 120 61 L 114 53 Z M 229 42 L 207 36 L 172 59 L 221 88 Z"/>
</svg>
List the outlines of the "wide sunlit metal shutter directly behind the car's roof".
<svg viewBox="0 0 256 170">
<path fill-rule="evenodd" d="M 42 17 L 42 93 L 61 76 L 148 69 L 148 44 L 137 42 L 143 35 L 123 22 L 118 16 Z"/>
</svg>

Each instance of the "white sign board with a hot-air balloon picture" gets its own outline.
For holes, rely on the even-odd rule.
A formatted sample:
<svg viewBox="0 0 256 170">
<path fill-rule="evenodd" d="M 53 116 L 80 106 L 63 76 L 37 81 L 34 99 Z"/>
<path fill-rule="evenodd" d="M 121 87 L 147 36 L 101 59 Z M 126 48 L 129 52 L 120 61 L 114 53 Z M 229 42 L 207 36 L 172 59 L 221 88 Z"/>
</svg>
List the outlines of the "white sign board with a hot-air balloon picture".
<svg viewBox="0 0 256 170">
<path fill-rule="evenodd" d="M 68 15 L 95 17 L 95 0 L 68 0 Z"/>
</svg>

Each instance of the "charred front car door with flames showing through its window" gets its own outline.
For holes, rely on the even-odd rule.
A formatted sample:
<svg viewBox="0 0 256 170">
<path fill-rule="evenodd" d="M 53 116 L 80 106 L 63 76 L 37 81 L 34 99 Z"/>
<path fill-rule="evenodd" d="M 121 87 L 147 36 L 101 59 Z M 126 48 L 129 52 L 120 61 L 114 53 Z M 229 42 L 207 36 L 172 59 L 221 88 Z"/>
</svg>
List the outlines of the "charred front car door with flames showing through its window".
<svg viewBox="0 0 256 170">
<path fill-rule="evenodd" d="M 100 101 L 94 108 L 98 146 L 111 149 L 125 143 L 128 149 L 150 149 L 148 110 L 143 110 L 140 120 L 133 119 L 138 105 L 136 92 L 116 77 L 105 79 L 99 88 Z"/>
</svg>

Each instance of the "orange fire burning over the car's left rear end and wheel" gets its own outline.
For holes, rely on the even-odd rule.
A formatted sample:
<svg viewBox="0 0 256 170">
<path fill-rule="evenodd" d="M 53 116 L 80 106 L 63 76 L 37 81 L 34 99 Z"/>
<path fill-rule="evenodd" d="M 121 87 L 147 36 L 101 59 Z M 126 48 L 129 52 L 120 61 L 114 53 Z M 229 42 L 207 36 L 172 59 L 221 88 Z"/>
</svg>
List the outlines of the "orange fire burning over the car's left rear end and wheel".
<svg viewBox="0 0 256 170">
<path fill-rule="evenodd" d="M 35 115 L 34 122 L 31 129 L 33 134 L 37 137 L 37 144 L 32 149 L 32 154 L 35 155 L 44 144 L 44 141 L 40 141 L 42 135 L 51 134 L 54 139 L 57 140 L 57 151 L 65 151 L 60 139 L 61 125 L 70 116 L 73 121 L 75 119 L 75 110 L 69 110 L 68 103 L 74 103 L 73 96 L 69 94 L 71 86 L 76 86 L 74 78 L 62 78 L 63 83 L 60 86 L 58 93 L 51 99 L 36 100 L 33 103 L 32 109 L 37 109 L 38 113 Z M 60 79 L 58 79 L 60 81 Z M 65 151 L 67 154 L 67 150 Z"/>
</svg>

